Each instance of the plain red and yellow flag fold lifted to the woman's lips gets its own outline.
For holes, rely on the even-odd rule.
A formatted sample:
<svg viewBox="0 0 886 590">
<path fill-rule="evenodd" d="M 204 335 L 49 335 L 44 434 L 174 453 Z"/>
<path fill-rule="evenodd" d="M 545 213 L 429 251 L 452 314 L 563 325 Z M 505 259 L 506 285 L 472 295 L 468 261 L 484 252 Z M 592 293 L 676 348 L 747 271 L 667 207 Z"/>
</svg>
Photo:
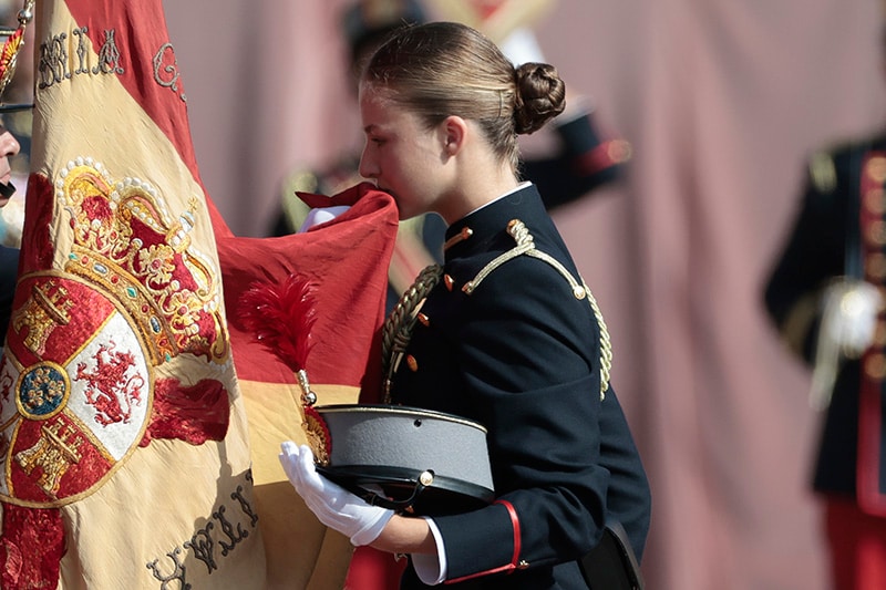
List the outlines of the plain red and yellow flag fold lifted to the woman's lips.
<svg viewBox="0 0 886 590">
<path fill-rule="evenodd" d="M 301 389 L 291 369 L 268 354 L 237 312 L 250 287 L 292 275 L 315 287 L 316 321 L 306 370 L 317 405 L 381 398 L 380 328 L 398 230 L 393 199 L 362 184 L 334 195 L 302 195 L 311 206 L 351 208 L 306 234 L 237 238 L 217 229 L 230 338 L 249 418 L 255 495 L 261 515 L 268 588 L 338 590 L 350 541 L 327 530 L 292 489 L 277 459 L 280 442 L 307 444 Z"/>
</svg>

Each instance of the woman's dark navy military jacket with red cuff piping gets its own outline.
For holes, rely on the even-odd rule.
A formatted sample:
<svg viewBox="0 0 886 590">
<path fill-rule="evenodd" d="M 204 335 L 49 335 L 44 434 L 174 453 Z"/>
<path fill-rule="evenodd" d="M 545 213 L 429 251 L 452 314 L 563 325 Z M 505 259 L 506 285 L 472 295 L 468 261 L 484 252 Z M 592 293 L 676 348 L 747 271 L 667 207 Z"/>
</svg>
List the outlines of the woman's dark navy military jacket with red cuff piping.
<svg viewBox="0 0 886 590">
<path fill-rule="evenodd" d="M 512 250 L 525 224 L 548 261 Z M 465 228 L 471 235 L 460 236 Z M 434 518 L 459 588 L 584 589 L 577 560 L 620 521 L 638 557 L 650 518 L 646 474 L 616 393 L 601 400 L 601 324 L 533 185 L 452 225 L 444 278 L 421 307 L 393 377 L 395 403 L 488 429 L 496 503 Z M 474 290 L 464 291 L 468 281 Z M 579 289 L 579 294 L 581 290 Z M 465 457 L 465 460 L 470 460 Z M 411 568 L 403 588 L 423 588 Z"/>
</svg>

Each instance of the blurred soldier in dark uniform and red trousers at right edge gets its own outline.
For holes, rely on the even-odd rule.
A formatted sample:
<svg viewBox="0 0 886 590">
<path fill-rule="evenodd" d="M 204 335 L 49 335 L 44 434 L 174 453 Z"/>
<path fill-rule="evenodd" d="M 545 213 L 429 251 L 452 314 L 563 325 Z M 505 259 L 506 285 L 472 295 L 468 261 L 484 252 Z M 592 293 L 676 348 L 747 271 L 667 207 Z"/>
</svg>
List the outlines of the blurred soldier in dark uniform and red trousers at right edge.
<svg viewBox="0 0 886 590">
<path fill-rule="evenodd" d="M 886 134 L 814 154 L 765 287 L 824 412 L 813 489 L 833 588 L 886 588 Z"/>
</svg>

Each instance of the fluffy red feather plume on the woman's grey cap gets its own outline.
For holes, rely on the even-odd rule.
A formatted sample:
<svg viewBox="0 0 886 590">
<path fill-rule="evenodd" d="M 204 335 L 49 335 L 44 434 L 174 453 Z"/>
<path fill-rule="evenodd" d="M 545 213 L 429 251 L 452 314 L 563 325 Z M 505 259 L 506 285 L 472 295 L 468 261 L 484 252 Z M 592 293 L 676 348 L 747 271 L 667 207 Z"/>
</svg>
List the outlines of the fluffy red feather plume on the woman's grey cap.
<svg viewBox="0 0 886 590">
<path fill-rule="evenodd" d="M 256 281 L 239 300 L 238 311 L 247 329 L 295 372 L 306 369 L 311 348 L 316 289 L 293 273 L 281 284 Z"/>
</svg>

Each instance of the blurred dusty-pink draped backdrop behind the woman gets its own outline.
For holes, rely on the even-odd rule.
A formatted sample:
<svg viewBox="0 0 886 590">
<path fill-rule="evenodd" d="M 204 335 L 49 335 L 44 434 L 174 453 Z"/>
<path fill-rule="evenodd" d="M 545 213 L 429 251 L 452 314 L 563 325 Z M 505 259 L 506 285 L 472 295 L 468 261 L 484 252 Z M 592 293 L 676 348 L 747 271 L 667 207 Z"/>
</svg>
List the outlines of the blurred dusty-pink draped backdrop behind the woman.
<svg viewBox="0 0 886 590">
<path fill-rule="evenodd" d="M 343 0 L 167 0 L 209 195 L 264 235 L 281 179 L 359 145 Z M 886 121 L 876 0 L 560 0 L 537 33 L 633 144 L 555 219 L 607 317 L 652 483 L 650 589 L 825 588 L 808 375 L 762 282 L 815 147 Z M 359 248 L 359 245 L 353 245 Z"/>
</svg>

